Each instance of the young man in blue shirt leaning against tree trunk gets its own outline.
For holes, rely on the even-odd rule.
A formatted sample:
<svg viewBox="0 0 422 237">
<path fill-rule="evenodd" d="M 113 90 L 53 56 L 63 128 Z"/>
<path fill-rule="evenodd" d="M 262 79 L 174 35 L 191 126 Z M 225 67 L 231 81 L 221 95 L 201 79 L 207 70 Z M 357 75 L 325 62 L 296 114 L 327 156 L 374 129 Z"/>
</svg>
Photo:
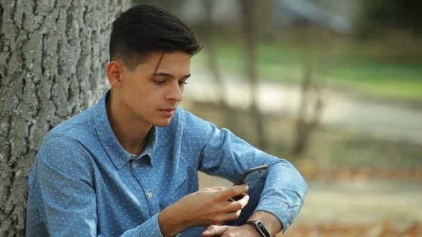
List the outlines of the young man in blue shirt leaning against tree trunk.
<svg viewBox="0 0 422 237">
<path fill-rule="evenodd" d="M 114 21 L 112 88 L 44 138 L 28 177 L 27 236 L 275 236 L 292 224 L 306 192 L 292 164 L 178 107 L 199 49 L 161 8 Z M 198 191 L 199 170 L 236 182 L 263 164 L 260 185 Z"/>
</svg>

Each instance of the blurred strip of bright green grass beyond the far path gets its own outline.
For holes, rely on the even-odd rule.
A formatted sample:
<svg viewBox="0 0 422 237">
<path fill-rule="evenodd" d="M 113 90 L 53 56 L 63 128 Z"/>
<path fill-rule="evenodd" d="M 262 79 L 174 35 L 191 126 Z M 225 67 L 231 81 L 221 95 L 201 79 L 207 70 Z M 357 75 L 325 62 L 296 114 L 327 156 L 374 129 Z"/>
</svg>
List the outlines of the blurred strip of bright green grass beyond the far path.
<svg viewBox="0 0 422 237">
<path fill-rule="evenodd" d="M 244 73 L 242 44 L 233 39 L 217 41 L 217 61 L 222 71 Z M 199 60 L 205 60 L 204 52 Z M 262 80 L 298 83 L 303 78 L 305 61 L 312 63 L 314 79 L 324 85 L 346 87 L 377 98 L 422 100 L 422 53 L 415 55 L 412 49 L 405 53 L 382 44 L 335 42 L 326 46 L 298 42 L 258 46 L 257 70 Z"/>
</svg>

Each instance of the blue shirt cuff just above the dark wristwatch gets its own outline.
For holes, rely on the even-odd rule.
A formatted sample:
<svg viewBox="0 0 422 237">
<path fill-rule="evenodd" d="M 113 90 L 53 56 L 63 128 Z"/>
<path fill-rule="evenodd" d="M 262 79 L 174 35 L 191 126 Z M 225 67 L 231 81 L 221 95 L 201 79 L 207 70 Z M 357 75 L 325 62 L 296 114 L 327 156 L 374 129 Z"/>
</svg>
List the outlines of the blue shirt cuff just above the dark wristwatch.
<svg viewBox="0 0 422 237">
<path fill-rule="evenodd" d="M 282 233 L 287 231 L 287 228 L 292 225 L 295 216 L 292 216 L 292 210 L 285 206 L 282 202 L 274 200 L 272 198 L 264 198 L 260 200 L 258 207 L 255 211 L 267 211 L 280 220 L 282 223 Z"/>
</svg>

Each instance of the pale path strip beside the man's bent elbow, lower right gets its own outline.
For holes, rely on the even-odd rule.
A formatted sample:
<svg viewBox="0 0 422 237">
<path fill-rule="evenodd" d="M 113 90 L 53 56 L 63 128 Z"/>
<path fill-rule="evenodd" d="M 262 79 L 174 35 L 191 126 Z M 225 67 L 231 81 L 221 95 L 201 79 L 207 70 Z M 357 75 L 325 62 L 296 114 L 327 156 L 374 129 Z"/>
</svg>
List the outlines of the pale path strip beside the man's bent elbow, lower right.
<svg viewBox="0 0 422 237">
<path fill-rule="evenodd" d="M 230 187 L 219 177 L 199 173 L 201 188 Z M 362 225 L 388 220 L 400 225 L 422 222 L 418 182 L 388 179 L 307 180 L 307 195 L 296 222 L 347 222 Z"/>
</svg>

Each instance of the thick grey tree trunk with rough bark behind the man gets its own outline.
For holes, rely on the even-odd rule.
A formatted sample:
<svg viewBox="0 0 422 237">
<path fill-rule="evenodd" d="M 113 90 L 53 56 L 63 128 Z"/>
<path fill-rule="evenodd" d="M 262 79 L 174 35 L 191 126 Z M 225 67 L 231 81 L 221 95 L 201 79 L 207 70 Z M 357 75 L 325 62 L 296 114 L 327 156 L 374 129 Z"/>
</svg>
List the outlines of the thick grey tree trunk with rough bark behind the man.
<svg viewBox="0 0 422 237">
<path fill-rule="evenodd" d="M 128 0 L 0 3 L 0 236 L 24 236 L 26 178 L 44 134 L 107 87 L 112 19 Z"/>
</svg>

